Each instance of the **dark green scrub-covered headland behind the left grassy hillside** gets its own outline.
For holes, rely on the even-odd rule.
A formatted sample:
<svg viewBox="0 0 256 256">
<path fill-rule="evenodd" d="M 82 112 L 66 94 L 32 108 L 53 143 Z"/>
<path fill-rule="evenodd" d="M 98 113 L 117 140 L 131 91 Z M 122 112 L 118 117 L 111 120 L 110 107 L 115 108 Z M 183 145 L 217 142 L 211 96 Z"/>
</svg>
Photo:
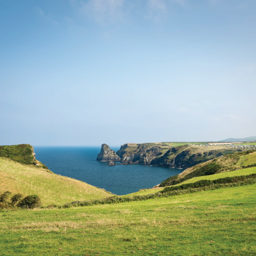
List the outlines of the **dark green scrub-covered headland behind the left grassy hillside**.
<svg viewBox="0 0 256 256">
<path fill-rule="evenodd" d="M 35 159 L 34 149 L 29 144 L 0 146 L 0 157 L 10 158 L 18 163 L 34 164 L 48 169 L 45 164 L 42 164 Z"/>
</svg>

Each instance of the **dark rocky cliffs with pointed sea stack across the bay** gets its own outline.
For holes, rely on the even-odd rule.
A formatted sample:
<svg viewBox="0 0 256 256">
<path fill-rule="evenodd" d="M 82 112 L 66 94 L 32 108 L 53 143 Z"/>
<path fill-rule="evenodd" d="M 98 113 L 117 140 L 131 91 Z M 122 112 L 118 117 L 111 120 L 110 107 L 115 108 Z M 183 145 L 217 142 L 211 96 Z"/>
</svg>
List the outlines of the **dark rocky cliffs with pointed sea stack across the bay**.
<svg viewBox="0 0 256 256">
<path fill-rule="evenodd" d="M 110 150 L 108 145 L 105 147 Z M 230 149 L 227 151 L 220 147 L 213 150 L 212 147 L 190 144 L 172 146 L 170 143 L 164 142 L 126 143 L 120 147 L 116 154 L 114 151 L 110 151 L 106 152 L 104 160 L 100 161 L 114 160 L 121 161 L 122 164 L 150 164 L 167 168 L 188 168 L 215 157 L 236 152 L 236 150 L 231 152 Z M 116 160 L 116 157 L 119 157 L 119 160 Z"/>
</svg>

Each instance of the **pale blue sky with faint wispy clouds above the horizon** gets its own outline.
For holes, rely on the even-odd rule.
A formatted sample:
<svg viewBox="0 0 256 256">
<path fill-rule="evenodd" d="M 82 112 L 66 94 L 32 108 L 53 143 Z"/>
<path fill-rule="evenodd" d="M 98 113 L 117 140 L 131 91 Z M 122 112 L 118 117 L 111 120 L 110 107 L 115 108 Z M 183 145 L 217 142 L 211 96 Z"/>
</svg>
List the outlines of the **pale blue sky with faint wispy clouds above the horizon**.
<svg viewBox="0 0 256 256">
<path fill-rule="evenodd" d="M 256 136 L 255 0 L 0 0 L 0 144 Z"/>
</svg>

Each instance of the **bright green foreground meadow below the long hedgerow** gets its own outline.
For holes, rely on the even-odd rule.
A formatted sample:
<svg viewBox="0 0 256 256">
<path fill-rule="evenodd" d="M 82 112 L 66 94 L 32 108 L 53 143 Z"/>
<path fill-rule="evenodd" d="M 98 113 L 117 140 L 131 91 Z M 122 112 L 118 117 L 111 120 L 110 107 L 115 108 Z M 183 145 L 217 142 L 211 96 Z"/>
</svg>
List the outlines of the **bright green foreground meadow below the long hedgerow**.
<svg viewBox="0 0 256 256">
<path fill-rule="evenodd" d="M 0 255 L 255 255 L 256 184 L 147 201 L 0 212 Z"/>
</svg>

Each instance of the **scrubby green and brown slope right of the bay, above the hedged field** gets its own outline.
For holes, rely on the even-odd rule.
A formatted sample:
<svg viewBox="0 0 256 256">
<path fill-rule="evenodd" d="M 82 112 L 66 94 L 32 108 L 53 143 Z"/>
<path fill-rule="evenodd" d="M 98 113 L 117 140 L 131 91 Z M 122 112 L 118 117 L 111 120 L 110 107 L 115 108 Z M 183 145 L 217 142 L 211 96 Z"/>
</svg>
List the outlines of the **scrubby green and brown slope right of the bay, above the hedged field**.
<svg viewBox="0 0 256 256">
<path fill-rule="evenodd" d="M 234 154 L 218 157 L 190 167 L 179 175 L 169 177 L 168 179 L 164 180 L 160 186 L 175 185 L 195 177 L 231 172 L 236 169 L 252 167 L 256 165 L 255 160 L 256 152 L 254 151 L 237 152 Z"/>
</svg>

